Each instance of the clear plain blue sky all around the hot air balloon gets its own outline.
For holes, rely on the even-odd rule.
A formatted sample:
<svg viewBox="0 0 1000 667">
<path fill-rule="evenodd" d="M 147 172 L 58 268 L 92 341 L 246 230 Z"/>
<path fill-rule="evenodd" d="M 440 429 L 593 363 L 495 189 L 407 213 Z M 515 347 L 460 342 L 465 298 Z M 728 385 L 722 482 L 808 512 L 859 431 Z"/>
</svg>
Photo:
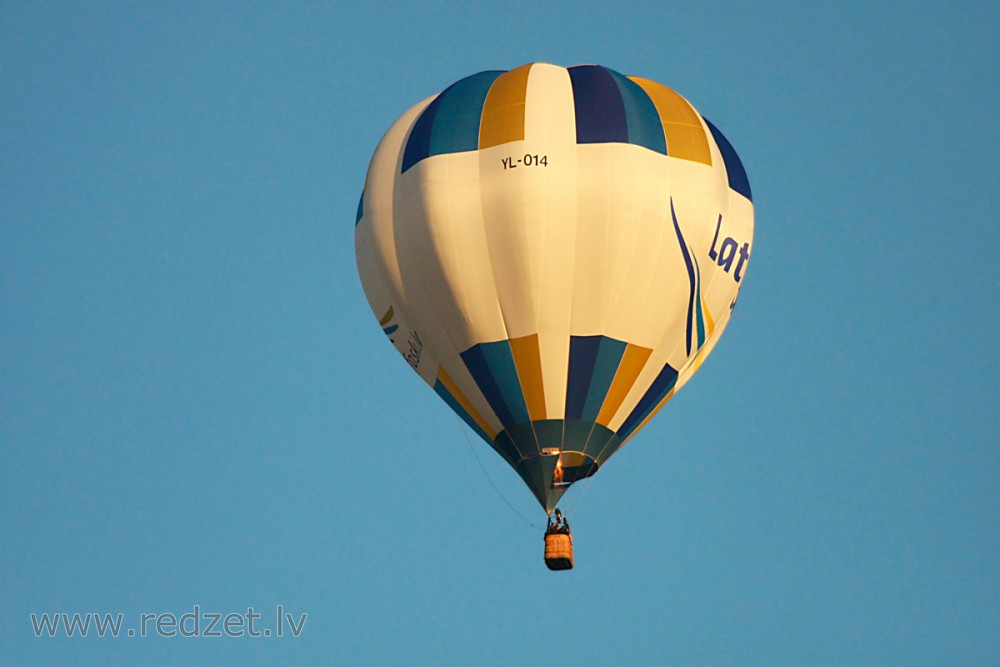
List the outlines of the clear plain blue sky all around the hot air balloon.
<svg viewBox="0 0 1000 667">
<path fill-rule="evenodd" d="M 402 4 L 0 8 L 0 664 L 1000 664 L 997 5 Z M 389 124 L 539 60 L 680 91 L 756 208 L 568 573 L 353 248 Z M 309 616 L 29 621 L 196 604 Z"/>
</svg>

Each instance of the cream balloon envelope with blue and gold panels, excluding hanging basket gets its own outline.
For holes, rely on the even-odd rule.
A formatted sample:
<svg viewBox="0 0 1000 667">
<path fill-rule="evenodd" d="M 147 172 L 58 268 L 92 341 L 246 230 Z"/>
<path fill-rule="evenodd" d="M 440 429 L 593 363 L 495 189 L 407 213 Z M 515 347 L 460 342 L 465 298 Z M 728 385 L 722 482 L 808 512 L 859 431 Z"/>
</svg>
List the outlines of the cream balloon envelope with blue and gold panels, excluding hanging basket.
<svg viewBox="0 0 1000 667">
<path fill-rule="evenodd" d="M 383 332 L 550 515 L 712 351 L 752 237 L 718 128 L 599 65 L 480 72 L 412 107 L 355 221 Z"/>
</svg>

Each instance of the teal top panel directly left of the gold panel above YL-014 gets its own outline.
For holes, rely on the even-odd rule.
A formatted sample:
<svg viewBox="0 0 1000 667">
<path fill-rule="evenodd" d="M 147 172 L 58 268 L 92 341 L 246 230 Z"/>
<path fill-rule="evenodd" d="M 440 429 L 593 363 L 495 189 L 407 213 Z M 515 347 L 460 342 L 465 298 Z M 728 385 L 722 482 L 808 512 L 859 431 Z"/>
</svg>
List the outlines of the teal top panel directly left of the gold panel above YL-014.
<svg viewBox="0 0 1000 667">
<path fill-rule="evenodd" d="M 452 84 L 441 93 L 434 118 L 430 155 L 474 151 L 479 148 L 479 122 L 490 86 L 501 71 L 480 72 Z"/>
</svg>

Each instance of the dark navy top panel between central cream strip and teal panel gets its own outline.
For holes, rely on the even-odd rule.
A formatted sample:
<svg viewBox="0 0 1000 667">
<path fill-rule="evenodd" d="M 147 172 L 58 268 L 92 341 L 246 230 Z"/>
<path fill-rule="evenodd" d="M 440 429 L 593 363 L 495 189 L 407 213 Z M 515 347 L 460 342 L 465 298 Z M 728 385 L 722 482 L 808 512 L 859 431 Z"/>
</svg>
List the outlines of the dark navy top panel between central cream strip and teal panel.
<svg viewBox="0 0 1000 667">
<path fill-rule="evenodd" d="M 580 144 L 628 143 L 622 95 L 611 73 L 597 65 L 569 68 Z"/>
</svg>

